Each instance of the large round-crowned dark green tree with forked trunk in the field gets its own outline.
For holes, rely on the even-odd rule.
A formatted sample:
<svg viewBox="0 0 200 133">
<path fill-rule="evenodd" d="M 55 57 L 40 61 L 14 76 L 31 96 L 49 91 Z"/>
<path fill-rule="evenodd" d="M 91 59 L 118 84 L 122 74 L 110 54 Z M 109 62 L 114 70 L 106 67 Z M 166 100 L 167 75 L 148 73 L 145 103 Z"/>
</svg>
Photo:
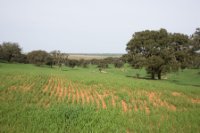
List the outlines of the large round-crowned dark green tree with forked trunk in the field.
<svg viewBox="0 0 200 133">
<path fill-rule="evenodd" d="M 134 68 L 145 67 L 152 79 L 155 75 L 161 79 L 161 75 L 179 66 L 188 66 L 188 42 L 188 36 L 170 34 L 165 29 L 136 32 L 127 44 L 125 57 Z"/>
</svg>

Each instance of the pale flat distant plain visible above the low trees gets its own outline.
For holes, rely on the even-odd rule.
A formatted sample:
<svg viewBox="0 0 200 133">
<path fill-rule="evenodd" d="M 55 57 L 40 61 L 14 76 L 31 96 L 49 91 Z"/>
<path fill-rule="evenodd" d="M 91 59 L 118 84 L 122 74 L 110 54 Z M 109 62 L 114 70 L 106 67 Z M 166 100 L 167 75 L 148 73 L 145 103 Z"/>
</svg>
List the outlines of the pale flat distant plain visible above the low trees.
<svg viewBox="0 0 200 133">
<path fill-rule="evenodd" d="M 85 60 L 91 60 L 91 59 L 104 59 L 107 57 L 121 57 L 122 54 L 69 54 L 69 59 L 85 59 Z"/>
</svg>

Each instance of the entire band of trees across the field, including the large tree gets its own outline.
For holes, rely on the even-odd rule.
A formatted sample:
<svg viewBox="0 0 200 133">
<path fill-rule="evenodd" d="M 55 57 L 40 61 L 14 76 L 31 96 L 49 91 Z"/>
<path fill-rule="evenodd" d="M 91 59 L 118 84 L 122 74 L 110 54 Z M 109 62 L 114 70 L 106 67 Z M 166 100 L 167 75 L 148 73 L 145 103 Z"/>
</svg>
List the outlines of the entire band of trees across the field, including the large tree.
<svg viewBox="0 0 200 133">
<path fill-rule="evenodd" d="M 59 50 L 49 53 L 44 50 L 33 50 L 23 54 L 19 44 L 3 42 L 0 44 L 0 61 L 50 67 L 66 65 L 72 68 L 94 64 L 99 71 L 108 68 L 108 64 L 120 68 L 124 63 L 129 63 L 133 68 L 145 68 L 150 78 L 161 79 L 162 75 L 171 71 L 200 68 L 200 28 L 191 36 L 169 33 L 166 29 L 135 32 L 127 43 L 126 50 L 127 54 L 120 58 L 73 60 L 68 58 L 69 54 Z"/>
</svg>

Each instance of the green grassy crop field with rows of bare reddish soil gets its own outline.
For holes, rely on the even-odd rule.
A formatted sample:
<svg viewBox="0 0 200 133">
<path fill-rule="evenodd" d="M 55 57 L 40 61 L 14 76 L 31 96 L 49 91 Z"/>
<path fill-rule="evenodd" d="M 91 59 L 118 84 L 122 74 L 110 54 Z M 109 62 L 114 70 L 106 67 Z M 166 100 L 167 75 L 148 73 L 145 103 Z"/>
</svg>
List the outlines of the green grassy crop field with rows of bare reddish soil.
<svg viewBox="0 0 200 133">
<path fill-rule="evenodd" d="M 200 132 L 200 70 L 104 71 L 0 63 L 0 132 Z"/>
</svg>

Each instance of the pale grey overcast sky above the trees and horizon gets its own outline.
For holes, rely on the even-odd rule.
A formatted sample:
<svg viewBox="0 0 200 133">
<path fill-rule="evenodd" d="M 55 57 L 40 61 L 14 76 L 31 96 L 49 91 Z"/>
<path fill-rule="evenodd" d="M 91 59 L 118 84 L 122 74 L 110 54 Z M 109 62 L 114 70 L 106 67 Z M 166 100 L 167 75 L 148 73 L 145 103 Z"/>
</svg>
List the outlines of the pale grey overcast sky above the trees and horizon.
<svg viewBox="0 0 200 133">
<path fill-rule="evenodd" d="M 200 0 L 0 0 L 0 43 L 24 52 L 125 53 L 134 32 L 197 27 Z"/>
</svg>

